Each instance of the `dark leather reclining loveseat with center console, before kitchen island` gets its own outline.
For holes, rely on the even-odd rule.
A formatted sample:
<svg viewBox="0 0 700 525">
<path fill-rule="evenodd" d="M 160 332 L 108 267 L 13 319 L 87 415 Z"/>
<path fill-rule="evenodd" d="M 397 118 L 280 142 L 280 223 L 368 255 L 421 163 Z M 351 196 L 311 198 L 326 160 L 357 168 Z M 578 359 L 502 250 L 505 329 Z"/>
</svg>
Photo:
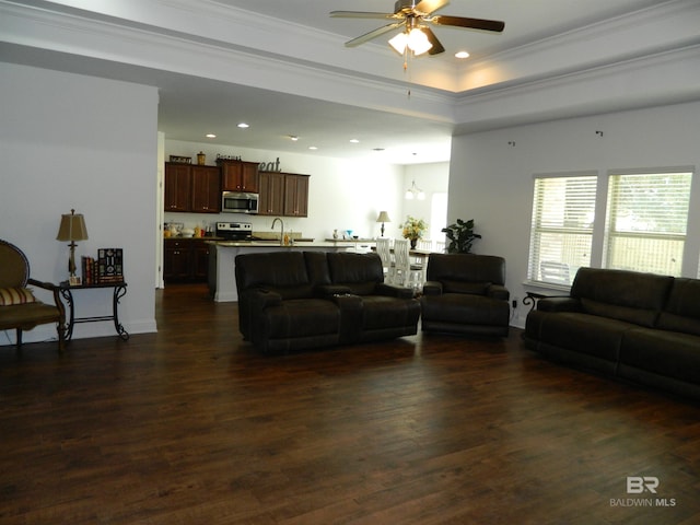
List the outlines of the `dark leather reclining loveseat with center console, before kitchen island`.
<svg viewBox="0 0 700 525">
<path fill-rule="evenodd" d="M 384 283 L 376 254 L 281 250 L 235 260 L 238 327 L 262 352 L 418 332 L 420 303 Z"/>
</svg>

